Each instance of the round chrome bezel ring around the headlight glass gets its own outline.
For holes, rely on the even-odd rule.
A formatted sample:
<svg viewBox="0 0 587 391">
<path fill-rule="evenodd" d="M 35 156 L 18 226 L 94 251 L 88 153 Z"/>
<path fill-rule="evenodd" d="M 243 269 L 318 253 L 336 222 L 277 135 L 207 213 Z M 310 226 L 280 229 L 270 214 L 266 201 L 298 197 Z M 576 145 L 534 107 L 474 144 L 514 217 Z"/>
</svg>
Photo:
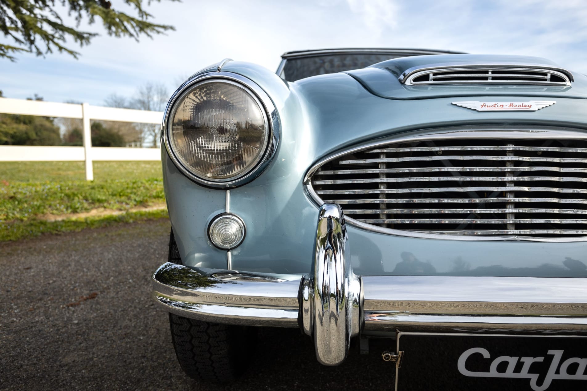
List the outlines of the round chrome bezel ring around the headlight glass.
<svg viewBox="0 0 587 391">
<path fill-rule="evenodd" d="M 205 83 L 227 83 L 244 90 L 257 102 L 257 104 L 259 104 L 259 107 L 265 115 L 267 134 L 264 151 L 259 154 L 259 157 L 252 166 L 245 169 L 238 176 L 233 176 L 228 179 L 203 178 L 200 175 L 194 174 L 194 172 L 181 163 L 171 146 L 172 143 L 170 142 L 169 132 L 171 131 L 171 121 L 173 121 L 174 114 L 176 113 L 178 106 L 180 106 L 179 104 L 187 94 L 191 93 L 191 90 L 193 90 L 194 87 Z M 254 81 L 247 77 L 231 72 L 207 72 L 190 77 L 190 79 L 181 84 L 173 96 L 171 96 L 164 112 L 163 124 L 161 124 L 161 137 L 163 138 L 161 145 L 165 145 L 171 161 L 173 161 L 174 165 L 176 165 L 177 168 L 187 176 L 187 178 L 191 179 L 191 181 L 210 188 L 235 188 L 252 181 L 264 171 L 277 150 L 279 133 L 280 125 L 278 113 L 275 110 L 271 98 L 269 98 L 268 94 L 266 94 L 258 84 L 254 83 Z"/>
</svg>

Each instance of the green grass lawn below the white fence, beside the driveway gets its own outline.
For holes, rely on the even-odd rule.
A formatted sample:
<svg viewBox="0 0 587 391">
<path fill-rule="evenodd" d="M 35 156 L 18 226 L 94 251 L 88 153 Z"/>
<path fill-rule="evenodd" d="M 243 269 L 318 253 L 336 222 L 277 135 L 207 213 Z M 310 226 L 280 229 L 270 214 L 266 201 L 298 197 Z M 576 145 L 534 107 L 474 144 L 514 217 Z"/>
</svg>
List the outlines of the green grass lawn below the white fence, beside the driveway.
<svg viewBox="0 0 587 391">
<path fill-rule="evenodd" d="M 83 162 L 0 162 L 0 241 L 166 216 L 160 162 L 94 162 L 94 177 Z"/>
</svg>

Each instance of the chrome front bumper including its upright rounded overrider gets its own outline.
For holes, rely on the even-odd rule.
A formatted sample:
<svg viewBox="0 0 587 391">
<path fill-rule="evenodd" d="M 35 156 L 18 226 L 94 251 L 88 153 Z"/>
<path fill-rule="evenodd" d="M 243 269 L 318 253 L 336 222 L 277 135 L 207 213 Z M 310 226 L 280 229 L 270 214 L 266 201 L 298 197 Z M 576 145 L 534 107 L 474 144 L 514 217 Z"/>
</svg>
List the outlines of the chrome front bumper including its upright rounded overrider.
<svg viewBox="0 0 587 391">
<path fill-rule="evenodd" d="M 319 211 L 312 273 L 269 282 L 204 276 L 164 263 L 154 298 L 167 311 L 208 322 L 301 327 L 318 361 L 344 361 L 369 331 L 587 331 L 587 278 L 356 276 L 340 207 Z"/>
</svg>

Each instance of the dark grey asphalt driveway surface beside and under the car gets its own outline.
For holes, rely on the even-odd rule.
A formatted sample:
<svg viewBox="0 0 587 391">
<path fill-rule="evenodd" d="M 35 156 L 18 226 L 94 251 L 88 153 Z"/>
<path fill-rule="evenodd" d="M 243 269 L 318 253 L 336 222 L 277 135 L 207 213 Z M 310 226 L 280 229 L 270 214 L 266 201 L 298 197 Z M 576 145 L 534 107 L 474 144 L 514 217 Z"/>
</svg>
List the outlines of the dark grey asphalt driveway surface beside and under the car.
<svg viewBox="0 0 587 391">
<path fill-rule="evenodd" d="M 261 328 L 250 368 L 232 385 L 181 371 L 150 277 L 167 260 L 170 224 L 155 220 L 0 243 L 0 389 L 393 389 L 371 341 L 338 367 L 316 362 L 297 329 Z"/>
</svg>

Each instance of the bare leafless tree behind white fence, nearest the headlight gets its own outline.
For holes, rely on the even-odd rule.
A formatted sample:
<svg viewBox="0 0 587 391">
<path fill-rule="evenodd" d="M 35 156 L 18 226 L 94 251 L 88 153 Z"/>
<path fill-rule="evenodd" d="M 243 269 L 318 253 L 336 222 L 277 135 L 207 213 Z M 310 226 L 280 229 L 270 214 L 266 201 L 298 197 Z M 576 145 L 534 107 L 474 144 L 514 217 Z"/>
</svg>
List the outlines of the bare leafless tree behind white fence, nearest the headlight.
<svg viewBox="0 0 587 391">
<path fill-rule="evenodd" d="M 163 111 L 168 99 L 167 87 L 163 83 L 150 81 L 137 89 L 134 97 L 130 100 L 130 107 L 139 110 Z M 144 141 L 150 142 L 153 148 L 157 148 L 160 126 L 140 124 L 139 127 L 143 130 Z"/>
</svg>

